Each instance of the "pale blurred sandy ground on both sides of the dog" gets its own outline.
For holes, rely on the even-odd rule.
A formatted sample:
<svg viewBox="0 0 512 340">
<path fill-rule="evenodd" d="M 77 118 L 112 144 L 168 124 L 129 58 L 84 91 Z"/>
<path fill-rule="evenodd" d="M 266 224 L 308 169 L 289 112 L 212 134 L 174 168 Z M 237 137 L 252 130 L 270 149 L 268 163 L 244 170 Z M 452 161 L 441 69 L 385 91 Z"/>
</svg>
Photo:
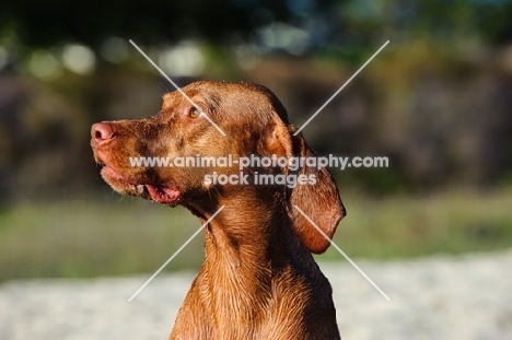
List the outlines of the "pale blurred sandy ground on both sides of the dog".
<svg viewBox="0 0 512 340">
<path fill-rule="evenodd" d="M 344 340 L 512 339 L 512 250 L 321 267 Z M 0 339 L 167 339 L 194 273 L 12 281 L 0 285 Z"/>
</svg>

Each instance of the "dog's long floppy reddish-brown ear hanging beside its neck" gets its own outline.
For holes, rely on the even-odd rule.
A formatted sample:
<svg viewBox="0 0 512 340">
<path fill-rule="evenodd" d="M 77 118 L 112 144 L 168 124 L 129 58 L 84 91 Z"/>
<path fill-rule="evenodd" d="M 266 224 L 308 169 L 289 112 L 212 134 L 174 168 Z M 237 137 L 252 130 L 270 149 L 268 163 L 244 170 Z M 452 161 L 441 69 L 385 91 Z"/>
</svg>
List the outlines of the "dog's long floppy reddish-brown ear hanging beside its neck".
<svg viewBox="0 0 512 340">
<path fill-rule="evenodd" d="M 302 133 L 293 136 L 296 128 L 276 121 L 267 130 L 265 149 L 277 157 L 286 156 L 289 162 L 294 160 L 314 157 L 314 151 L 307 145 Z M 271 132 L 270 132 L 271 131 Z M 290 164 L 290 163 L 289 163 Z M 305 175 L 306 184 L 296 183 L 289 192 L 289 215 L 295 234 L 301 243 L 312 253 L 322 254 L 330 245 L 329 241 L 295 208 L 295 206 L 318 226 L 327 237 L 333 238 L 339 221 L 345 216 L 345 207 L 339 198 L 338 188 L 330 172 L 326 168 L 306 166 L 296 171 L 286 169 L 286 175 Z M 288 188 L 287 188 L 288 189 Z"/>
</svg>

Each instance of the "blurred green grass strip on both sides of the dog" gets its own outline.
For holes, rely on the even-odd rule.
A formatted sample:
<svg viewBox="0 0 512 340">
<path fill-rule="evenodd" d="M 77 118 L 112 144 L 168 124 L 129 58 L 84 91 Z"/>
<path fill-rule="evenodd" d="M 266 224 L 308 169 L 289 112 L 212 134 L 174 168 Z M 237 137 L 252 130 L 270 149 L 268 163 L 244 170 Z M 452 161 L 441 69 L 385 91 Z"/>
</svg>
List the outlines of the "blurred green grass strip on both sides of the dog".
<svg viewBox="0 0 512 340">
<path fill-rule="evenodd" d="M 113 194 L 115 195 L 115 194 Z M 349 256 L 395 259 L 507 249 L 512 192 L 452 192 L 369 198 L 341 191 L 348 216 L 334 241 Z M 140 199 L 19 204 L 0 213 L 0 281 L 154 272 L 197 228 L 188 211 Z M 165 268 L 197 269 L 199 234 Z M 344 260 L 330 247 L 317 260 Z"/>
</svg>

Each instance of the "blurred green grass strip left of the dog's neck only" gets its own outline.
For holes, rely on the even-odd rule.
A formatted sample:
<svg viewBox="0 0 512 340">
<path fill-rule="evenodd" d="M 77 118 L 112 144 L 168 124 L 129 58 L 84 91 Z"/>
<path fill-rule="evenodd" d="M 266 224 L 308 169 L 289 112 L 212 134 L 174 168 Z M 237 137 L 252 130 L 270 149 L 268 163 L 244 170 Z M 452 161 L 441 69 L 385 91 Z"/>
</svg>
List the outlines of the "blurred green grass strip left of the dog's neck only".
<svg viewBox="0 0 512 340">
<path fill-rule="evenodd" d="M 0 225 L 0 280 L 155 271 L 200 226 L 183 209 L 131 199 L 19 204 Z M 201 255 L 198 236 L 167 270 L 199 266 Z"/>
</svg>

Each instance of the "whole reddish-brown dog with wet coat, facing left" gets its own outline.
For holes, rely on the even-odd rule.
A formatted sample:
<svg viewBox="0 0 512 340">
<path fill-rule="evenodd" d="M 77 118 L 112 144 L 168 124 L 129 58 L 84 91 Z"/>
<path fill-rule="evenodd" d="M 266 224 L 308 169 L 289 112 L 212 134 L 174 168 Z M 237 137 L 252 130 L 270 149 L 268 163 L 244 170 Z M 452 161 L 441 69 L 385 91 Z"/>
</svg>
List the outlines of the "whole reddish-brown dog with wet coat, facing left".
<svg viewBox="0 0 512 340">
<path fill-rule="evenodd" d="M 340 339 L 330 284 L 311 255 L 329 242 L 294 207 L 333 237 L 345 208 L 326 168 L 130 163 L 139 156 L 232 155 L 236 163 L 248 155 L 314 155 L 266 87 L 208 81 L 183 91 L 198 107 L 173 92 L 156 116 L 98 122 L 91 130 L 94 157 L 116 191 L 182 204 L 201 223 L 224 206 L 205 227 L 206 259 L 171 339 Z M 245 179 L 220 185 L 212 174 Z M 260 185 L 254 179 L 260 174 L 303 180 Z"/>
</svg>

